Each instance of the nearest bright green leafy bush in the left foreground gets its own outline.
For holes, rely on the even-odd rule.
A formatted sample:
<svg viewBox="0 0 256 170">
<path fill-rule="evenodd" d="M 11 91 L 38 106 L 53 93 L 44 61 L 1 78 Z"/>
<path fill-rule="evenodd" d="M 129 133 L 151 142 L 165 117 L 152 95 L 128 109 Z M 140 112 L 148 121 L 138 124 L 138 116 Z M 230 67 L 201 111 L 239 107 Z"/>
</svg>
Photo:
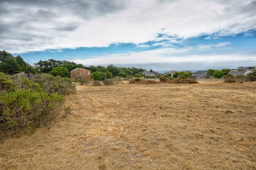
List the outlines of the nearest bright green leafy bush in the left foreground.
<svg viewBox="0 0 256 170">
<path fill-rule="evenodd" d="M 17 89 L 0 95 L 0 138 L 20 131 L 32 132 L 34 128 L 56 122 L 63 108 L 64 97 L 44 91 Z"/>
</svg>

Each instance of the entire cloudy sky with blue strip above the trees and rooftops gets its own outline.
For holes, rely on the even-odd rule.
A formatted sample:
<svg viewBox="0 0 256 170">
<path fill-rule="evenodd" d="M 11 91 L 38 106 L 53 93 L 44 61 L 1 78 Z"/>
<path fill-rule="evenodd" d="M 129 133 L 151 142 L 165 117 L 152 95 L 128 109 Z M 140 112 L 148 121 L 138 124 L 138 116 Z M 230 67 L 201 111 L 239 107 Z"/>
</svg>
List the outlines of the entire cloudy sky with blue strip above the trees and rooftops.
<svg viewBox="0 0 256 170">
<path fill-rule="evenodd" d="M 256 65 L 256 0 L 0 0 L 0 50 L 164 72 Z"/>
</svg>

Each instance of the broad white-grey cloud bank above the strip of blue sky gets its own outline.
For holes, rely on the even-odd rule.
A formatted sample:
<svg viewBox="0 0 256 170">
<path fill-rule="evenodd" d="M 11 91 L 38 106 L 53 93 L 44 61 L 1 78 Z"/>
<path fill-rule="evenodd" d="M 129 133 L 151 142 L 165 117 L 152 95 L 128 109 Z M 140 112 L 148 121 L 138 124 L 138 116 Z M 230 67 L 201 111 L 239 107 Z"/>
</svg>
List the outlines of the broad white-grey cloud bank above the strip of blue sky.
<svg viewBox="0 0 256 170">
<path fill-rule="evenodd" d="M 28 5 L 20 1 L 23 11 L 17 10 L 19 5 L 9 4 L 11 1 L 4 2 L 11 12 L 1 14 L 0 38 L 4 41 L 0 42 L 0 50 L 21 53 L 45 49 L 106 47 L 111 43 L 144 43 L 155 39 L 157 33 L 188 38 L 214 32 L 218 32 L 216 36 L 230 35 L 256 28 L 256 13 L 250 8 L 252 0 L 117 2 L 113 11 L 111 5 L 104 8 L 100 1 L 100 7 L 94 6 L 87 13 L 87 8 L 77 10 L 80 3 L 76 4 L 75 1 L 71 5 L 74 6 L 72 10 L 68 9 L 70 5 L 63 7 L 51 2 L 43 6 L 35 2 Z M 93 1 L 81 2 L 81 8 L 83 5 L 99 4 Z M 122 7 L 116 9 L 117 6 Z M 37 15 L 33 17 L 34 13 Z M 54 16 L 53 19 L 49 17 L 50 14 Z M 15 27 L 5 28 L 13 23 L 16 23 Z M 179 43 L 176 39 L 172 41 Z"/>
</svg>

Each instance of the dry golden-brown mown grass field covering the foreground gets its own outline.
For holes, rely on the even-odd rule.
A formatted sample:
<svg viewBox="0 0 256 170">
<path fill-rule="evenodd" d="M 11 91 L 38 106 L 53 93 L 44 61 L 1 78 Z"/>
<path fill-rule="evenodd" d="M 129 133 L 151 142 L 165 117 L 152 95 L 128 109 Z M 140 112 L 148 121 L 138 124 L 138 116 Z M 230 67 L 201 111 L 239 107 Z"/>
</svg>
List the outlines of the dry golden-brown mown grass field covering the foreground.
<svg viewBox="0 0 256 170">
<path fill-rule="evenodd" d="M 0 169 L 256 169 L 256 82 L 79 85 L 69 105 L 0 144 Z"/>
</svg>

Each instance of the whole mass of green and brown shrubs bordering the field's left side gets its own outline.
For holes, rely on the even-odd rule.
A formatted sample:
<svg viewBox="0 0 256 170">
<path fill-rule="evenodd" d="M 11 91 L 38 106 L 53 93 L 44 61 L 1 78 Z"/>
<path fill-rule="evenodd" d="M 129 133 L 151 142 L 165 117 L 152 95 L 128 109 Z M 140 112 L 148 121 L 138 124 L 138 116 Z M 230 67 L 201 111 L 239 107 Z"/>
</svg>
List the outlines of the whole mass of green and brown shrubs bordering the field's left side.
<svg viewBox="0 0 256 170">
<path fill-rule="evenodd" d="M 0 73 L 0 140 L 18 132 L 32 133 L 40 126 L 51 127 L 56 122 L 64 105 L 60 94 L 68 92 L 63 78 L 47 76 L 29 80 Z"/>
</svg>

